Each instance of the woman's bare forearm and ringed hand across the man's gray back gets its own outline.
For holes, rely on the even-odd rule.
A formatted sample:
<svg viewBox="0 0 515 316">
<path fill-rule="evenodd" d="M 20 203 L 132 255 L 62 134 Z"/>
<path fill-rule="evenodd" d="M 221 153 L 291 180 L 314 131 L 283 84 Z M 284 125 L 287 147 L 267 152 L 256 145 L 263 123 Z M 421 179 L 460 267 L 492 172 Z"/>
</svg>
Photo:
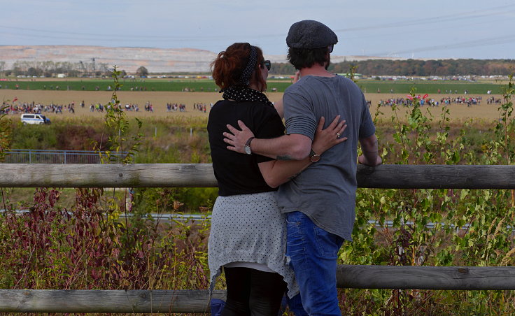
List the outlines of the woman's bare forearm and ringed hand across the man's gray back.
<svg viewBox="0 0 515 316">
<path fill-rule="evenodd" d="M 318 155 L 321 155 L 325 150 L 332 148 L 332 146 L 342 143 L 347 140 L 346 137 L 337 137 L 337 134 L 342 134 L 347 125 L 345 121 L 339 122 L 340 116 L 334 118 L 332 123 L 323 129 L 325 119 L 320 117 L 318 127 L 316 128 L 315 139 L 311 148 Z M 264 181 L 270 187 L 278 187 L 292 178 L 295 178 L 299 173 L 304 171 L 310 164 L 313 164 L 309 157 L 302 160 L 271 160 L 261 162 L 258 164 Z"/>
</svg>

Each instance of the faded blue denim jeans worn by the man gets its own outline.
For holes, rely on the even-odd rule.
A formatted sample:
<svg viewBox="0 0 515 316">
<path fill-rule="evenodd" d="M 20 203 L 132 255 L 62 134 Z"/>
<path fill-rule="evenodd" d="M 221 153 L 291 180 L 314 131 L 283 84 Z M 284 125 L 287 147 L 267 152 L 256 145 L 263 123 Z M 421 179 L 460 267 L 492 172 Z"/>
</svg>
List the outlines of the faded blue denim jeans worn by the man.
<svg viewBox="0 0 515 316">
<path fill-rule="evenodd" d="M 320 229 L 301 212 L 287 213 L 286 227 L 286 255 L 295 271 L 304 310 L 312 316 L 341 315 L 336 260 L 344 239 Z"/>
</svg>

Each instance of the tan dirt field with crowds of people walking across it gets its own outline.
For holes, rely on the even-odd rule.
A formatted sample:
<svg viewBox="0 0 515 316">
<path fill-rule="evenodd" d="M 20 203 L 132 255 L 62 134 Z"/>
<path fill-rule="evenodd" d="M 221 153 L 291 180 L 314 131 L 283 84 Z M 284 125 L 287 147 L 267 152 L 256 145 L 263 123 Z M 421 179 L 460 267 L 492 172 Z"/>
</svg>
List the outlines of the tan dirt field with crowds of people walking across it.
<svg viewBox="0 0 515 316">
<path fill-rule="evenodd" d="M 55 120 L 58 117 L 81 117 L 83 115 L 94 115 L 97 117 L 102 117 L 103 113 L 92 113 L 89 110 L 90 104 L 92 103 L 107 103 L 111 99 L 111 92 L 83 92 L 83 91 L 27 91 L 27 90 L 0 90 L 0 98 L 3 100 L 13 100 L 15 98 L 18 99 L 17 102 L 27 102 L 31 103 L 35 101 L 36 103 L 56 103 L 67 106 L 72 101 L 75 101 L 75 115 L 68 113 L 67 110 L 63 110 L 62 115 L 56 114 L 48 114 L 50 120 Z M 269 99 L 271 101 L 277 101 L 282 97 L 282 93 L 270 92 L 268 94 Z M 206 103 L 207 111 L 209 112 L 209 104 L 216 103 L 216 101 L 221 99 L 221 94 L 217 92 L 118 92 L 118 99 L 125 105 L 125 103 L 137 103 L 139 106 L 139 112 L 128 112 L 129 116 L 137 116 L 137 117 L 148 117 L 148 116 L 164 116 L 164 115 L 193 115 L 193 116 L 206 116 L 208 113 L 202 113 L 198 110 L 193 109 L 193 103 Z M 440 99 L 444 96 L 444 94 L 438 94 L 435 96 L 430 95 L 435 99 Z M 451 95 L 453 96 L 453 95 Z M 456 95 L 458 96 L 458 95 Z M 461 95 L 463 96 L 463 95 Z M 471 95 L 472 96 L 472 95 Z M 474 95 L 475 96 L 475 95 Z M 486 99 L 491 96 L 495 96 L 496 99 L 501 98 L 500 95 L 481 95 L 483 101 L 481 105 L 472 106 L 468 108 L 463 104 L 453 104 L 449 106 L 451 110 L 451 118 L 458 120 L 465 120 L 467 118 L 475 118 L 482 120 L 497 120 L 499 117 L 498 114 L 498 105 L 487 105 Z M 367 100 L 372 101 L 372 107 L 370 111 L 372 115 L 376 111 L 376 104 L 379 103 L 381 99 L 386 100 L 390 98 L 397 97 L 406 97 L 405 94 L 376 94 L 369 93 L 365 94 Z M 85 108 L 80 108 L 79 104 L 81 101 L 85 102 Z M 154 106 L 154 112 L 149 113 L 143 110 L 145 103 L 150 101 L 150 103 Z M 186 105 L 186 112 L 167 112 L 166 104 L 167 102 L 171 103 L 184 103 Z M 442 113 L 441 107 L 439 108 L 430 108 L 432 114 L 435 117 L 439 117 Z M 403 108 L 401 111 L 404 112 Z M 390 117 L 392 115 L 392 111 L 390 107 L 383 106 L 381 107 L 381 112 L 384 114 L 382 117 Z"/>
</svg>

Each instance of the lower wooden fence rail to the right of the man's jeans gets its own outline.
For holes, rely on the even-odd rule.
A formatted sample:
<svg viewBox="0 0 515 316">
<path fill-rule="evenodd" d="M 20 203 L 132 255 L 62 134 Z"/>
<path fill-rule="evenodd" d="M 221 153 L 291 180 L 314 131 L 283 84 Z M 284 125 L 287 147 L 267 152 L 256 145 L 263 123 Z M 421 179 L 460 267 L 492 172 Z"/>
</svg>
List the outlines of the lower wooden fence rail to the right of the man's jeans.
<svg viewBox="0 0 515 316">
<path fill-rule="evenodd" d="M 338 266 L 337 287 L 354 289 L 515 289 L 515 267 Z"/>
</svg>

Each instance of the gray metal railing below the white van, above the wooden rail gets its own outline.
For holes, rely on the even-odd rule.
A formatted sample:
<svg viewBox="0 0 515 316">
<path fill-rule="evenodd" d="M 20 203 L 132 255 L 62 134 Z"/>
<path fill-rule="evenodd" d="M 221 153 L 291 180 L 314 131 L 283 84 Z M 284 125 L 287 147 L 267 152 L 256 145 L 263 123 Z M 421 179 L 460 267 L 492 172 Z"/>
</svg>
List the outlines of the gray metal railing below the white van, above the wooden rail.
<svg viewBox="0 0 515 316">
<path fill-rule="evenodd" d="M 127 152 L 95 152 L 93 150 L 12 149 L 6 152 L 6 164 L 100 164 L 100 155 L 122 158 Z"/>
</svg>

